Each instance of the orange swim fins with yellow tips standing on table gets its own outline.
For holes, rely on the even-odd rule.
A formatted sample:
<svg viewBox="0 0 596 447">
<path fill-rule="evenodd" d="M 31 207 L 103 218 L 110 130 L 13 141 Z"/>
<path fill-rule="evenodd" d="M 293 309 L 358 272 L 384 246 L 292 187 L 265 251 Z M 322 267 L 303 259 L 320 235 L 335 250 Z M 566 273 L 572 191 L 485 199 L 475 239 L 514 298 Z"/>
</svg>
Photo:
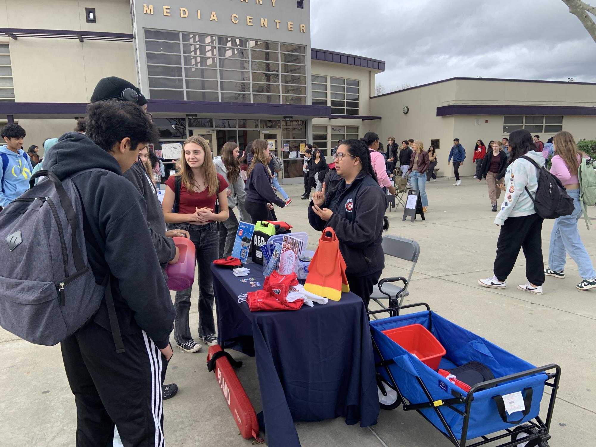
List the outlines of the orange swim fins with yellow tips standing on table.
<svg viewBox="0 0 596 447">
<path fill-rule="evenodd" d="M 305 290 L 330 300 L 339 301 L 342 291 L 349 291 L 346 263 L 339 251 L 339 241 L 333 228 L 325 228 L 319 246 L 308 268 Z"/>
</svg>

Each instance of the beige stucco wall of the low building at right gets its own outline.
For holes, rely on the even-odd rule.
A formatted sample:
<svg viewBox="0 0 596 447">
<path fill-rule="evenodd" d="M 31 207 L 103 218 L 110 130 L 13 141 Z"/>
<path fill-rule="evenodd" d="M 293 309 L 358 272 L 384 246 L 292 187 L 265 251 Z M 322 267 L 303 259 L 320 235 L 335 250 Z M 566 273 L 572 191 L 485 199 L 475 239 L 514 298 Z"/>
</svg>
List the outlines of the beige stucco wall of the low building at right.
<svg viewBox="0 0 596 447">
<path fill-rule="evenodd" d="M 440 138 L 437 151 L 439 175 L 453 176 L 453 167 L 447 159 L 453 138 L 460 138 L 466 159 L 460 175 L 472 176 L 473 149 L 478 139 L 488 144 L 491 139 L 501 139 L 502 115 L 460 115 L 437 117 L 437 107 L 450 104 L 490 105 L 581 105 L 596 106 L 596 86 L 577 83 L 543 83 L 492 80 L 458 79 L 421 86 L 382 97 L 371 98 L 371 114 L 380 115 L 380 122 L 371 122 L 371 130 L 379 134 L 383 142 L 389 135 L 402 139 L 421 139 L 428 148 L 431 139 Z M 404 115 L 402 109 L 409 107 Z M 479 124 L 476 124 L 479 120 Z M 563 130 L 576 139 L 596 139 L 596 117 L 564 116 Z M 541 133 L 546 142 L 554 134 Z"/>
</svg>

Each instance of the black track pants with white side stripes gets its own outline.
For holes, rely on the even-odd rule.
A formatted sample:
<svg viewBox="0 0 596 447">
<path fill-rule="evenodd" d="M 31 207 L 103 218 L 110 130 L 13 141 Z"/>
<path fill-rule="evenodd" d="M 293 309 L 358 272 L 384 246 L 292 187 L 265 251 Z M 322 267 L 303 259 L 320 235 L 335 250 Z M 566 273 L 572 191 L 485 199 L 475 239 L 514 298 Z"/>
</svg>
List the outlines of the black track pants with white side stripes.
<svg viewBox="0 0 596 447">
<path fill-rule="evenodd" d="M 166 358 L 145 331 L 122 335 L 89 322 L 60 347 L 77 410 L 77 447 L 112 445 L 114 424 L 125 447 L 163 447 L 162 383 Z"/>
</svg>

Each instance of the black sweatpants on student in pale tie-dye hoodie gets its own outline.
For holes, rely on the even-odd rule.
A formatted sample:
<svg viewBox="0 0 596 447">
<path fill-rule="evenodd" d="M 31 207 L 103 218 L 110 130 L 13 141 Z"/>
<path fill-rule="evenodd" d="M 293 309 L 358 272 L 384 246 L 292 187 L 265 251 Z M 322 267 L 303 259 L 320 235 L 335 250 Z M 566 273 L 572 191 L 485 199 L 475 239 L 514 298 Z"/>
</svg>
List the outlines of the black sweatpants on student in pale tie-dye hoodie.
<svg viewBox="0 0 596 447">
<path fill-rule="evenodd" d="M 537 214 L 508 218 L 501 225 L 496 243 L 494 272 L 499 281 L 507 280 L 520 249 L 526 257 L 526 278 L 534 285 L 544 284 L 542 260 L 542 219 Z"/>
</svg>

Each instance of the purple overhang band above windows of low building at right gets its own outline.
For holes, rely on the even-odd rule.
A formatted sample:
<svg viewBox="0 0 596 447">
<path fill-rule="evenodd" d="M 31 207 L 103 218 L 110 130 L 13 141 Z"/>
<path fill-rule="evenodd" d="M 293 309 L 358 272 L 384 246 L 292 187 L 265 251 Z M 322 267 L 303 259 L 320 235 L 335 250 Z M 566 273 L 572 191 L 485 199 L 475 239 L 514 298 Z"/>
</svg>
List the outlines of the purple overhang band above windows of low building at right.
<svg viewBox="0 0 596 447">
<path fill-rule="evenodd" d="M 452 104 L 437 107 L 437 116 L 452 115 L 583 115 L 596 116 L 596 107 L 582 105 L 471 105 Z"/>
</svg>

